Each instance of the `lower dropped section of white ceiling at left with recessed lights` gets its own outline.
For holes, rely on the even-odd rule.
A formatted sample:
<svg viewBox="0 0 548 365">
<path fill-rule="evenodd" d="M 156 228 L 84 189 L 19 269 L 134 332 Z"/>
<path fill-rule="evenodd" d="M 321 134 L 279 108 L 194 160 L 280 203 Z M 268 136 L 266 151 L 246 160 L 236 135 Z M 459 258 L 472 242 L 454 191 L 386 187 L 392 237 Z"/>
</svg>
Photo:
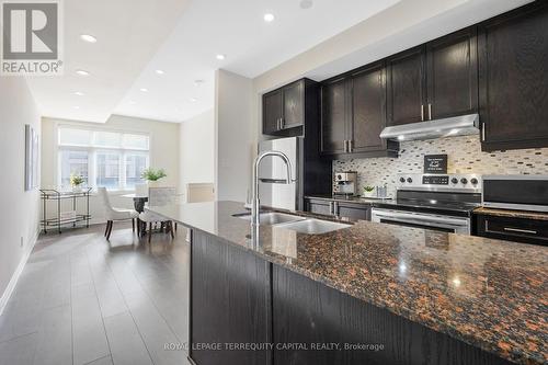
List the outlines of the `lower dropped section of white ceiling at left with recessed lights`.
<svg viewBox="0 0 548 365">
<path fill-rule="evenodd" d="M 171 33 L 187 2 L 62 1 L 65 73 L 27 79 L 42 114 L 106 122 L 158 46 Z M 98 42 L 83 42 L 80 34 L 91 34 Z M 77 69 L 91 75 L 78 76 Z M 84 95 L 75 95 L 77 91 Z"/>
</svg>

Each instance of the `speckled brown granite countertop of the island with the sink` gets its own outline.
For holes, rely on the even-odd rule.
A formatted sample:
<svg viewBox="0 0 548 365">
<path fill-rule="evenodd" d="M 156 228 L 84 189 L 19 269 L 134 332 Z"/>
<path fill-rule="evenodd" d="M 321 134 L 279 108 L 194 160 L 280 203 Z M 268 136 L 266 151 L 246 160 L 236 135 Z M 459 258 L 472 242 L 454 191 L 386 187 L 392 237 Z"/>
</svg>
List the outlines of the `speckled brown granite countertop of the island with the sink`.
<svg viewBox="0 0 548 365">
<path fill-rule="evenodd" d="M 324 235 L 264 226 L 253 248 L 242 203 L 150 209 L 503 358 L 548 363 L 545 247 L 361 220 Z"/>
</svg>

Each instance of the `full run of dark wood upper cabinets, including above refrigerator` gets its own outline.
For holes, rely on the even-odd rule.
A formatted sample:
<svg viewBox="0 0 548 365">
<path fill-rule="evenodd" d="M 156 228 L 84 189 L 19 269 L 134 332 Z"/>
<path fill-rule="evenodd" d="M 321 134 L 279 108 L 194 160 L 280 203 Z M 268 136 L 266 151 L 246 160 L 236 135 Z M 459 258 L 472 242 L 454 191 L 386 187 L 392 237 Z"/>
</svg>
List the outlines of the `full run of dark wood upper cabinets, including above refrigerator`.
<svg viewBox="0 0 548 365">
<path fill-rule="evenodd" d="M 379 138 L 385 126 L 473 113 L 483 150 L 548 147 L 547 65 L 548 1 L 534 1 L 323 81 L 319 151 L 397 156 L 398 142 Z M 302 125 L 299 82 L 264 95 L 265 134 Z"/>
</svg>

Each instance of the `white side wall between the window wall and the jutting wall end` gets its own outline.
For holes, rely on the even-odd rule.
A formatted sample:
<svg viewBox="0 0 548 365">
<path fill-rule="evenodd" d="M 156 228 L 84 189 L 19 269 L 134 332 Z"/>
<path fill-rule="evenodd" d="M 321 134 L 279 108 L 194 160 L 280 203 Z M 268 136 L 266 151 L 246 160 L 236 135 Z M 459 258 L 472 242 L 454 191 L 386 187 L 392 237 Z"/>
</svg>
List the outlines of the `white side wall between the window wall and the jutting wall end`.
<svg viewBox="0 0 548 365">
<path fill-rule="evenodd" d="M 187 183 L 213 183 L 215 179 L 215 114 L 202 113 L 179 124 L 179 191 Z M 182 197 L 186 201 L 186 196 Z"/>
</svg>

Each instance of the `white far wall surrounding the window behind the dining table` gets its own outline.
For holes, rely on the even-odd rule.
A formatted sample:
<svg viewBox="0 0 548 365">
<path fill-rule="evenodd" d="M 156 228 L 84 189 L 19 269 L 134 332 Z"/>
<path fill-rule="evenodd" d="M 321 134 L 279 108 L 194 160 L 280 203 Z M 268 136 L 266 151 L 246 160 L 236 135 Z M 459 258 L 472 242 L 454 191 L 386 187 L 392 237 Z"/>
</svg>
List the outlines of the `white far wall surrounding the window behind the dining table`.
<svg viewBox="0 0 548 365">
<path fill-rule="evenodd" d="M 112 115 L 104 124 L 73 122 L 65 119 L 42 119 L 42 186 L 57 186 L 57 147 L 56 128 L 59 124 L 88 126 L 94 128 L 140 132 L 150 136 L 150 167 L 162 168 L 168 174 L 161 180 L 162 185 L 179 186 L 179 124 Z M 111 193 L 111 203 L 115 207 L 133 207 L 133 201 L 123 197 L 127 192 Z M 104 223 L 103 206 L 96 196 L 90 201 L 91 223 Z M 52 212 L 54 212 L 52 209 Z"/>
</svg>

